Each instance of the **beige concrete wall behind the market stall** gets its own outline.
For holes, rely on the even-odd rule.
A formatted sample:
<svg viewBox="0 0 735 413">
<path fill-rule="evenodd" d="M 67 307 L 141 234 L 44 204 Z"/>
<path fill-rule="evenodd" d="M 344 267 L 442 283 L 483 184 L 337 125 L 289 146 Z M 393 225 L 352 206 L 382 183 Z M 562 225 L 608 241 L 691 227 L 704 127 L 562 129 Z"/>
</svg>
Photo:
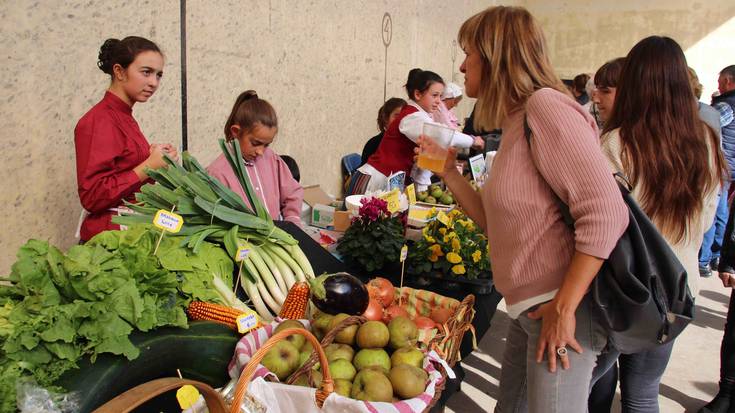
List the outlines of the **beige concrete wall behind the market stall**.
<svg viewBox="0 0 735 413">
<path fill-rule="evenodd" d="M 340 158 L 377 130 L 387 95 L 404 96 L 412 67 L 462 84 L 460 24 L 494 4 L 480 0 L 190 0 L 187 2 L 189 148 L 202 163 L 237 94 L 256 89 L 281 122 L 274 149 L 296 158 L 302 183 L 339 194 Z M 541 21 L 552 59 L 568 77 L 624 55 L 644 36 L 668 34 L 687 50 L 709 94 L 732 59 L 735 2 L 517 0 Z M 393 21 L 387 55 L 384 13 Z M 0 0 L 0 274 L 28 238 L 75 242 L 73 129 L 109 78 L 96 68 L 107 37 L 155 40 L 166 54 L 162 87 L 135 116 L 151 142 L 181 140 L 179 1 Z M 453 59 L 454 58 L 454 59 Z M 385 83 L 384 83 L 385 82 Z M 457 109 L 465 116 L 472 101 Z"/>
</svg>

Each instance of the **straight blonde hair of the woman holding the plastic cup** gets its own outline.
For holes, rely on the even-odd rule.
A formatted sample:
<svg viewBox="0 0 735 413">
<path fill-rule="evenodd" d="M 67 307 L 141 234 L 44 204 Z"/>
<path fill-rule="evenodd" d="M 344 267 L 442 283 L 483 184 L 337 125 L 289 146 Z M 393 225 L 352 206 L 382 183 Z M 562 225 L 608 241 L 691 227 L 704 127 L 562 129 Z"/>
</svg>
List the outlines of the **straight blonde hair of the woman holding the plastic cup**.
<svg viewBox="0 0 735 413">
<path fill-rule="evenodd" d="M 522 7 L 490 7 L 470 17 L 457 40 L 482 57 L 475 130 L 499 128 L 508 113 L 541 88 L 569 95 L 551 66 L 541 28 Z"/>
</svg>

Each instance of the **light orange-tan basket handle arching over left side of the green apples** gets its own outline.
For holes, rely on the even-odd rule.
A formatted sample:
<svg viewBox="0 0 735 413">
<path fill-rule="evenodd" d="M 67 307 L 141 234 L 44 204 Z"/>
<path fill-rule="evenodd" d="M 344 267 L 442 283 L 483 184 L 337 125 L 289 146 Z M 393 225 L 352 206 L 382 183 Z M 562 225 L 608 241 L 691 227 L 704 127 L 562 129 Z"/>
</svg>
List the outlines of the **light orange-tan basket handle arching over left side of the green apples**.
<svg viewBox="0 0 735 413">
<path fill-rule="evenodd" d="M 235 396 L 232 399 L 232 405 L 230 406 L 230 413 L 238 413 L 240 411 L 240 405 L 245 399 L 245 394 L 248 390 L 248 384 L 255 374 L 255 370 L 258 368 L 258 364 L 265 357 L 266 353 L 273 348 L 276 343 L 283 340 L 284 338 L 292 334 L 301 334 L 311 343 L 314 350 L 319 356 L 319 362 L 322 365 L 322 383 L 316 390 L 316 405 L 321 408 L 324 405 L 324 400 L 334 392 L 334 381 L 332 380 L 332 373 L 329 372 L 329 363 L 327 362 L 327 355 L 324 354 L 324 349 L 319 344 L 319 340 L 314 337 L 310 332 L 302 328 L 287 328 L 274 334 L 266 343 L 258 349 L 250 358 L 247 366 L 243 369 L 240 374 L 240 378 L 237 380 L 237 387 L 235 388 Z"/>
</svg>

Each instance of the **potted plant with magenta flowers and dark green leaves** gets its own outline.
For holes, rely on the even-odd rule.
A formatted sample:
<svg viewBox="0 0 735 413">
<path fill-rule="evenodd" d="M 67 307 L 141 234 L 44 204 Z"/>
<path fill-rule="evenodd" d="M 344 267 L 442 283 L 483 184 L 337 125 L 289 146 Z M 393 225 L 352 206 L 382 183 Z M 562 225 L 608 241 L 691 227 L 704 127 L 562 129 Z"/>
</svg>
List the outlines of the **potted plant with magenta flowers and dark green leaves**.
<svg viewBox="0 0 735 413">
<path fill-rule="evenodd" d="M 337 245 L 343 260 L 368 273 L 399 262 L 405 242 L 404 223 L 379 198 L 363 198 L 358 215 Z"/>
</svg>

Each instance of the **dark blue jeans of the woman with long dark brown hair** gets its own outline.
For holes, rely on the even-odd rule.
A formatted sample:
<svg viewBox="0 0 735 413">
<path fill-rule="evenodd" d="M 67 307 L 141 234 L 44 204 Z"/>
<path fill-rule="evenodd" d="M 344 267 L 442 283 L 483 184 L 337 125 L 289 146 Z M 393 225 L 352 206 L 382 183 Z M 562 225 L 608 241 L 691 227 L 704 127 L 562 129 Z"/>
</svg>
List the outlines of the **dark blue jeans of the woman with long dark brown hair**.
<svg viewBox="0 0 735 413">
<path fill-rule="evenodd" d="M 658 413 L 658 386 L 669 364 L 673 348 L 674 343 L 670 342 L 653 350 L 635 354 L 620 354 L 617 350 L 611 349 L 597 358 L 591 385 L 595 386 L 617 360 L 623 413 Z M 607 391 L 615 394 L 614 382 L 607 387 Z M 596 397 L 602 396 L 598 394 Z"/>
</svg>

